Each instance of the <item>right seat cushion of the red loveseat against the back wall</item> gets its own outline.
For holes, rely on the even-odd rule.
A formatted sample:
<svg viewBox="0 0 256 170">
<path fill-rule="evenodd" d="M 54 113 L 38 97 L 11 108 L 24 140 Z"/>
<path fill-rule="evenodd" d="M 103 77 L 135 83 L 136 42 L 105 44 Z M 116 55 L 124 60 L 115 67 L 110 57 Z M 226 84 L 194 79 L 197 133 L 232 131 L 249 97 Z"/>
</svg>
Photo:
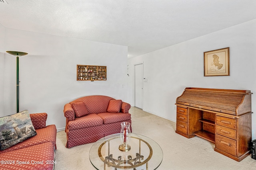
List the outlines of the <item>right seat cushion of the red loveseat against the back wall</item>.
<svg viewBox="0 0 256 170">
<path fill-rule="evenodd" d="M 131 119 L 130 113 L 99 113 L 98 114 L 102 119 L 104 124 L 115 123 L 119 121 L 126 121 Z"/>
</svg>

